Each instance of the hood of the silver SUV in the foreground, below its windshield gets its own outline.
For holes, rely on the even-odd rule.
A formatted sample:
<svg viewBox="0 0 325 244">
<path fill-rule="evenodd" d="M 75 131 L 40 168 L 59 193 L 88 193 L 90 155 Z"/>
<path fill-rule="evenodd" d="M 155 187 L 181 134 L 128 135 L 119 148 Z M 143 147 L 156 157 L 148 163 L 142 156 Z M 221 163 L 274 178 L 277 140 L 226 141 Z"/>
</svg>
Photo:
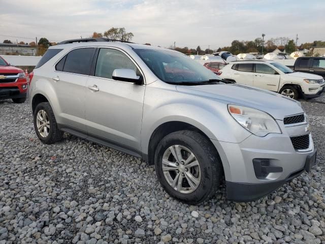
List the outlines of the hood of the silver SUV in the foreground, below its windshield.
<svg viewBox="0 0 325 244">
<path fill-rule="evenodd" d="M 222 102 L 262 110 L 275 119 L 283 120 L 285 116 L 302 113 L 300 102 L 280 94 L 240 84 L 211 85 L 177 85 L 180 93 L 201 96 Z"/>
</svg>

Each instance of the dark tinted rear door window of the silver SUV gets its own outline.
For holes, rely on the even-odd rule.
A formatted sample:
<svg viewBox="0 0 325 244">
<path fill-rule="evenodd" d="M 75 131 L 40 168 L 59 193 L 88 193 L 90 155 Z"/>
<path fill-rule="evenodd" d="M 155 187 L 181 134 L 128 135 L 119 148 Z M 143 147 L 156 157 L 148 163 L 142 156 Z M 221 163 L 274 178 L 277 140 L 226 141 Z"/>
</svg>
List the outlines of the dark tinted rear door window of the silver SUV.
<svg viewBox="0 0 325 244">
<path fill-rule="evenodd" d="M 80 48 L 68 53 L 64 72 L 89 75 L 94 48 Z"/>
</svg>

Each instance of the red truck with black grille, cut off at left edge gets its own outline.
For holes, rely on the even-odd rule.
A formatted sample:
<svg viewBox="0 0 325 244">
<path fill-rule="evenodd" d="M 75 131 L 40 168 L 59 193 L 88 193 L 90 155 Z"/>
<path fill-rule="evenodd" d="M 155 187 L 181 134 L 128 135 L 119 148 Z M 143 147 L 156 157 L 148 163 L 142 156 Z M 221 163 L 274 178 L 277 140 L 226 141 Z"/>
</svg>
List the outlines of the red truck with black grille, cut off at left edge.
<svg viewBox="0 0 325 244">
<path fill-rule="evenodd" d="M 26 100 L 28 82 L 23 70 L 10 66 L 0 56 L 0 100 L 12 99 L 14 103 Z"/>
</svg>

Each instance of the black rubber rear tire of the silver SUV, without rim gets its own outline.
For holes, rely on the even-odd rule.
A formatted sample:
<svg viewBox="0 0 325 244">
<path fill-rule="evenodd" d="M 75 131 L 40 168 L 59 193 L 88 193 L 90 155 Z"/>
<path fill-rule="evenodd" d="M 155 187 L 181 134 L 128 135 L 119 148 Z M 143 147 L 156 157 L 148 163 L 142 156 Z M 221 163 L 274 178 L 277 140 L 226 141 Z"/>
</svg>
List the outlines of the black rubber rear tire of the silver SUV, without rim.
<svg viewBox="0 0 325 244">
<path fill-rule="evenodd" d="M 37 118 L 36 117 L 40 110 L 45 110 L 45 112 L 47 113 L 49 122 L 50 122 L 49 133 L 46 137 L 43 137 L 37 129 Z M 35 112 L 34 112 L 34 129 L 35 129 L 35 132 L 36 132 L 38 138 L 45 144 L 53 144 L 63 138 L 63 132 L 57 128 L 53 110 L 51 108 L 51 105 L 48 102 L 39 103 L 36 106 Z"/>
</svg>

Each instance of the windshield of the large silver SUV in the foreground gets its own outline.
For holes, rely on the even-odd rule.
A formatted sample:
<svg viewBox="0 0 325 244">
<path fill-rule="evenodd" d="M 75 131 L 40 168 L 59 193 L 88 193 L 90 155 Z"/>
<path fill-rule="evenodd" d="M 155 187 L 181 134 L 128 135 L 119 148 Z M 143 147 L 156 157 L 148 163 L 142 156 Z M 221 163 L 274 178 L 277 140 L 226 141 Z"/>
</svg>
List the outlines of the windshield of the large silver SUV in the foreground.
<svg viewBox="0 0 325 244">
<path fill-rule="evenodd" d="M 167 83 L 200 83 L 220 80 L 212 71 L 190 57 L 168 50 L 134 49 L 149 69 Z"/>
</svg>

